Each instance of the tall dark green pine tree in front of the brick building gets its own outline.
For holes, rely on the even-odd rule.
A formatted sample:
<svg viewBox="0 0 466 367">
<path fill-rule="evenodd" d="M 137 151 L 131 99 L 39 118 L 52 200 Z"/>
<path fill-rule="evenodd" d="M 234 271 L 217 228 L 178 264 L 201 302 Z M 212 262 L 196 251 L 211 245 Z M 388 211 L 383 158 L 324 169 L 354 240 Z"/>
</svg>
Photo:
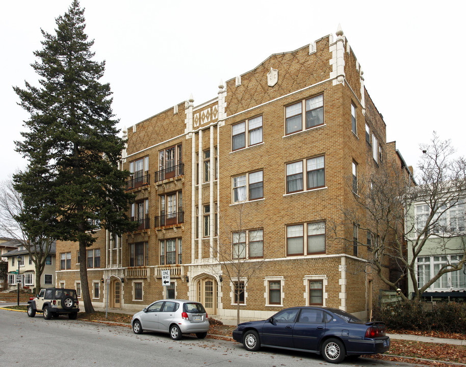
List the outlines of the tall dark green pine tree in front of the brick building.
<svg viewBox="0 0 466 367">
<path fill-rule="evenodd" d="M 132 196 L 123 189 L 128 173 L 118 169 L 124 140 L 117 136 L 110 85 L 99 82 L 105 62 L 92 60 L 84 9 L 74 0 L 56 23 L 55 34 L 41 30 L 43 48 L 34 53 L 40 87 L 25 82 L 25 89 L 14 88 L 30 113 L 24 140 L 16 142 L 29 166 L 14 180 L 31 211 L 39 206 L 48 217 L 54 214 L 57 220 L 46 229 L 50 237 L 79 242 L 84 307 L 92 313 L 86 247 L 100 226 L 116 234 L 134 227 L 125 214 Z M 39 203 L 40 197 L 46 200 Z"/>
</svg>

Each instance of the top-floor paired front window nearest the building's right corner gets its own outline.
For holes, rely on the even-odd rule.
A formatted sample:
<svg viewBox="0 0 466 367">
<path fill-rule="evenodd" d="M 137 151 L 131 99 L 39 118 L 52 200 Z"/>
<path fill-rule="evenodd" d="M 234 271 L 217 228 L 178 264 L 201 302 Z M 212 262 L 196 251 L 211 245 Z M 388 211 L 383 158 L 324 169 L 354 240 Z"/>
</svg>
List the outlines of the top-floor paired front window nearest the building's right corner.
<svg viewBox="0 0 466 367">
<path fill-rule="evenodd" d="M 305 118 L 302 114 L 305 109 Z M 303 129 L 324 124 L 323 94 L 285 107 L 285 134 L 293 134 Z"/>
</svg>

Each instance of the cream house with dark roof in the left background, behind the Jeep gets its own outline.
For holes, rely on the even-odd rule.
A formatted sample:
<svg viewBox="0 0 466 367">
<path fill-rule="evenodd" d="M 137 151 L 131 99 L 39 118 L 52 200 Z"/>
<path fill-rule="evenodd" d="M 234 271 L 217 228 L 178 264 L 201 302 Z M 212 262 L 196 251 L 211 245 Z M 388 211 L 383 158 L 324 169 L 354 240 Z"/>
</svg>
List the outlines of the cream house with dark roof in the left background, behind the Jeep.
<svg viewBox="0 0 466 367">
<path fill-rule="evenodd" d="M 47 256 L 45 268 L 40 279 L 42 287 L 55 286 L 55 253 L 56 246 L 54 242 L 51 245 L 50 253 Z M 19 274 L 22 275 L 20 287 L 32 292 L 36 287 L 36 269 L 28 250 L 24 246 L 19 245 L 18 248 L 3 254 L 3 256 L 8 259 L 8 288 L 16 289 L 16 274 L 19 268 Z"/>
</svg>

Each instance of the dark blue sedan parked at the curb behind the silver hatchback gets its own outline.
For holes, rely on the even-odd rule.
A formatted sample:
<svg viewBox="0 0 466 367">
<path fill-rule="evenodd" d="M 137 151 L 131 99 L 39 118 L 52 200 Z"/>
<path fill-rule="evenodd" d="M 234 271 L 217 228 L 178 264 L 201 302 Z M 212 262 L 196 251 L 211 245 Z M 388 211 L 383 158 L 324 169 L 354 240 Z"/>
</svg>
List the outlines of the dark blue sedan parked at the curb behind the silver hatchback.
<svg viewBox="0 0 466 367">
<path fill-rule="evenodd" d="M 233 338 L 248 351 L 261 347 L 322 354 L 331 363 L 345 356 L 384 353 L 390 337 L 382 322 L 364 322 L 351 313 L 329 307 L 291 307 L 262 321 L 239 324 Z"/>
</svg>

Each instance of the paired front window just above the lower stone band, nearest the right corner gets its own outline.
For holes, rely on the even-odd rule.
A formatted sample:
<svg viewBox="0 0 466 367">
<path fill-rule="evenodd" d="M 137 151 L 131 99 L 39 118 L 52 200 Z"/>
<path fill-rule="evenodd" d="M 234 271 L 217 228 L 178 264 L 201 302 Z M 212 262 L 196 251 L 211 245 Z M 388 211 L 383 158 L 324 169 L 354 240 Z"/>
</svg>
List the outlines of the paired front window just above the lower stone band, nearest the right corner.
<svg viewBox="0 0 466 367">
<path fill-rule="evenodd" d="M 315 253 L 325 253 L 325 222 L 287 226 L 287 255 Z"/>
</svg>

